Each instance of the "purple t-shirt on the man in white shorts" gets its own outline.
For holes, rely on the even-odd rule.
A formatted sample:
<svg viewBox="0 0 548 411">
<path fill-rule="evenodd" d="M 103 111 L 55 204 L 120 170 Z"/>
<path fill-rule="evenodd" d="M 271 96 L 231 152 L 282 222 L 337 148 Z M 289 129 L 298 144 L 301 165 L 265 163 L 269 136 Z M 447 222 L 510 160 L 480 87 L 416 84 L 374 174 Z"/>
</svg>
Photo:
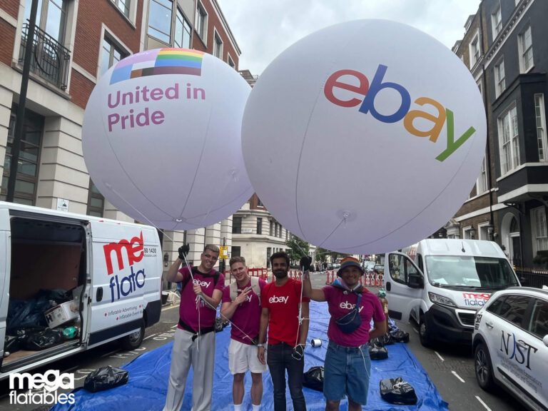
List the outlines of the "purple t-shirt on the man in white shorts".
<svg viewBox="0 0 548 411">
<path fill-rule="evenodd" d="M 265 280 L 259 278 L 260 293 L 263 293 L 265 287 Z M 251 286 L 251 280 L 245 285 L 245 287 L 238 290 L 243 290 Z M 230 287 L 225 287 L 223 291 L 223 303 L 230 303 Z M 253 290 L 248 294 L 248 299 L 238 305 L 232 318 L 233 326 L 230 330 L 230 338 L 233 340 L 243 342 L 244 344 L 252 344 L 250 338 L 255 338 L 259 335 L 260 324 L 260 300 L 259 296 L 253 293 Z M 235 325 L 235 326 L 234 326 Z M 239 329 L 238 329 L 239 328 Z"/>
</svg>

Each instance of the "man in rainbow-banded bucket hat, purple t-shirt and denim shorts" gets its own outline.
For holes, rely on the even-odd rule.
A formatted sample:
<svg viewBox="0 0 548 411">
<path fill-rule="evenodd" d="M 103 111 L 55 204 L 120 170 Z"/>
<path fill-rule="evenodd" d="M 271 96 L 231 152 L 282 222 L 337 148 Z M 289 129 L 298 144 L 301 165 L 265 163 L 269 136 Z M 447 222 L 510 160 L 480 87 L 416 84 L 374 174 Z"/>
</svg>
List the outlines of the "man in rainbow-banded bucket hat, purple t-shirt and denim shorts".
<svg viewBox="0 0 548 411">
<path fill-rule="evenodd" d="M 343 258 L 337 280 L 323 288 L 312 288 L 310 284 L 310 261 L 310 257 L 300 261 L 304 268 L 303 295 L 310 300 L 327 301 L 331 315 L 324 364 L 325 409 L 338 410 L 340 400 L 347 396 L 348 410 L 361 410 L 367 403 L 371 369 L 367 341 L 386 333 L 382 305 L 376 295 L 360 285 L 364 270 L 356 258 Z"/>
</svg>

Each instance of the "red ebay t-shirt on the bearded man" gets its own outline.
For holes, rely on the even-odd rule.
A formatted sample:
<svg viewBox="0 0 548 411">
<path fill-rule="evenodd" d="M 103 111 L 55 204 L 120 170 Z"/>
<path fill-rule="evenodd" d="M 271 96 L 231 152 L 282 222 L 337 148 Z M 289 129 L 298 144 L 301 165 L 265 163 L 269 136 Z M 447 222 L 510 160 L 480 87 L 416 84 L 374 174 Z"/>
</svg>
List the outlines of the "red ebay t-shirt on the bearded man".
<svg viewBox="0 0 548 411">
<path fill-rule="evenodd" d="M 260 305 L 270 311 L 268 322 L 268 343 L 278 344 L 285 342 L 292 347 L 298 341 L 299 328 L 299 304 L 301 301 L 302 283 L 293 278 L 277 287 L 275 283 L 268 283 L 261 291 Z M 310 298 L 303 297 L 303 303 L 308 303 Z"/>
</svg>

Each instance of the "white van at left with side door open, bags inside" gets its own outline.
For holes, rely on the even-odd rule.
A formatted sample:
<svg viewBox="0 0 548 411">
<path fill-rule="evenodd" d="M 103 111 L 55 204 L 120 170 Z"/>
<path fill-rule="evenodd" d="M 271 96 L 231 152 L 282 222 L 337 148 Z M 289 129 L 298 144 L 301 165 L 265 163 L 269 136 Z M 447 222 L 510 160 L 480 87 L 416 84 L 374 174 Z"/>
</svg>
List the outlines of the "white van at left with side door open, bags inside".
<svg viewBox="0 0 548 411">
<path fill-rule="evenodd" d="M 161 254 L 148 225 L 0 202 L 0 380 L 118 338 L 141 345 L 160 319 Z M 44 326 L 76 337 L 30 350 L 24 335 Z"/>
</svg>

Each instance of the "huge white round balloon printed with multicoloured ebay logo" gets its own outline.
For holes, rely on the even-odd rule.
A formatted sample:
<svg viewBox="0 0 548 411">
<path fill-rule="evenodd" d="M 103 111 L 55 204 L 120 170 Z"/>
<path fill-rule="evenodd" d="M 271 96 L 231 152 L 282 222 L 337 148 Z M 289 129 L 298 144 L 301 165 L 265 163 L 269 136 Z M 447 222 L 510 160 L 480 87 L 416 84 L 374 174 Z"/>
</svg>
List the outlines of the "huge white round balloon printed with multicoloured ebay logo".
<svg viewBox="0 0 548 411">
<path fill-rule="evenodd" d="M 258 78 L 243 116 L 251 183 L 295 235 L 383 253 L 447 223 L 480 173 L 474 78 L 417 29 L 350 21 L 305 37 Z"/>
</svg>

